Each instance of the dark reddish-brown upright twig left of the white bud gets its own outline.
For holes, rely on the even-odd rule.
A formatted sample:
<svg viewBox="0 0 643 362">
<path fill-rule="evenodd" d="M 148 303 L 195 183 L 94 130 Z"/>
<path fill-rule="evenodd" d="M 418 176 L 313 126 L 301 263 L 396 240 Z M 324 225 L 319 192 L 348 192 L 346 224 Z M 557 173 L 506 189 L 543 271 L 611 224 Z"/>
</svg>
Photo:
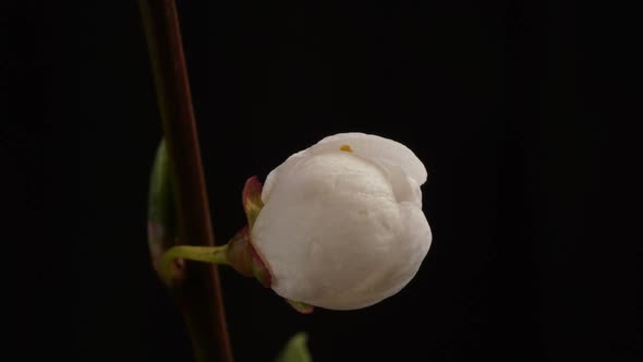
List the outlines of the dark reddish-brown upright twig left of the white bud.
<svg viewBox="0 0 643 362">
<path fill-rule="evenodd" d="M 214 245 L 205 177 L 192 109 L 174 0 L 139 0 L 184 244 Z M 231 362 L 232 353 L 216 266 L 185 263 L 172 287 L 199 362 Z"/>
</svg>

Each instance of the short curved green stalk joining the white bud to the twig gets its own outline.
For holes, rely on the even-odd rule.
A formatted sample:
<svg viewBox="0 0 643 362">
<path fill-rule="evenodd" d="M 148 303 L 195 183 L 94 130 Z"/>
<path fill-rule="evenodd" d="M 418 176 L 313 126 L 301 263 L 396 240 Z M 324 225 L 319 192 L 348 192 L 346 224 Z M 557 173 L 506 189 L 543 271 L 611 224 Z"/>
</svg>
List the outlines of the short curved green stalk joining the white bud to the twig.
<svg viewBox="0 0 643 362">
<path fill-rule="evenodd" d="M 161 258 L 161 274 L 168 281 L 177 277 L 175 262 L 178 258 L 194 262 L 206 262 L 218 265 L 230 265 L 228 262 L 228 245 L 221 246 L 192 246 L 177 245 L 165 252 Z"/>
</svg>

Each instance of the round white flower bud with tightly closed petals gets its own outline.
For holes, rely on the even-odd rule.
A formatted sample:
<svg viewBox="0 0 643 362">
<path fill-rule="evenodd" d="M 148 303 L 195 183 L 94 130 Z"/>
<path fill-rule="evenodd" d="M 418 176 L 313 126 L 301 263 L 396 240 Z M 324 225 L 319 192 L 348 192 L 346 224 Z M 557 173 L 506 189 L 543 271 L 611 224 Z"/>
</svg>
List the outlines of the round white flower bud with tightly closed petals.
<svg viewBox="0 0 643 362">
<path fill-rule="evenodd" d="M 426 169 L 407 146 L 341 133 L 268 174 L 253 244 L 289 300 L 329 310 L 368 306 L 417 273 L 432 233 L 422 213 Z"/>
</svg>

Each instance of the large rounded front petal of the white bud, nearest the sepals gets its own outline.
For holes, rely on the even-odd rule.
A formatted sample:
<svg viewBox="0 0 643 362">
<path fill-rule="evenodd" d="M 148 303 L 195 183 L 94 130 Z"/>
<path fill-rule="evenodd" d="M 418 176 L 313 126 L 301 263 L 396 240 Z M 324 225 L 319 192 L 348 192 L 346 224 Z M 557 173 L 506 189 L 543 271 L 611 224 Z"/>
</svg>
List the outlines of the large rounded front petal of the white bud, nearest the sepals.
<svg viewBox="0 0 643 362">
<path fill-rule="evenodd" d="M 381 169 L 337 152 L 302 158 L 288 170 L 259 213 L 252 239 L 278 294 L 350 309 L 352 297 L 326 295 L 359 288 L 385 264 L 403 263 L 388 261 L 401 225 Z"/>
</svg>

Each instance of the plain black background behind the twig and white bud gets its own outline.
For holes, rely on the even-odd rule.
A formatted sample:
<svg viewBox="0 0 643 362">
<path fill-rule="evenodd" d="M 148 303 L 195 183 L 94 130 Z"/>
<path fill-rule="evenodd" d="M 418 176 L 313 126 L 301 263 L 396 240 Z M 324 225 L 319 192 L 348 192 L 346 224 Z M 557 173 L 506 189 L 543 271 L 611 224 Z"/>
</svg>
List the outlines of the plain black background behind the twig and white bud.
<svg viewBox="0 0 643 362">
<path fill-rule="evenodd" d="M 612 41 L 586 5 L 179 10 L 219 243 L 244 222 L 243 182 L 326 135 L 393 138 L 429 173 L 432 249 L 416 278 L 377 305 L 300 315 L 221 270 L 235 360 L 268 361 L 299 330 L 315 361 L 642 359 L 639 240 L 622 231 L 633 219 L 603 206 L 618 186 L 600 176 L 618 167 L 598 152 L 592 93 L 618 64 L 597 58 Z M 16 334 L 84 361 L 189 361 L 145 241 L 161 131 L 136 2 L 25 4 L 2 19 L 5 53 L 20 55 L 2 60 L 2 98 L 20 114 L 1 138 L 5 190 L 27 220 L 22 238 L 38 241 L 23 243 L 38 257 L 19 270 L 35 273 L 29 301 L 44 315 Z M 54 354 L 23 350 L 40 352 Z"/>
</svg>

